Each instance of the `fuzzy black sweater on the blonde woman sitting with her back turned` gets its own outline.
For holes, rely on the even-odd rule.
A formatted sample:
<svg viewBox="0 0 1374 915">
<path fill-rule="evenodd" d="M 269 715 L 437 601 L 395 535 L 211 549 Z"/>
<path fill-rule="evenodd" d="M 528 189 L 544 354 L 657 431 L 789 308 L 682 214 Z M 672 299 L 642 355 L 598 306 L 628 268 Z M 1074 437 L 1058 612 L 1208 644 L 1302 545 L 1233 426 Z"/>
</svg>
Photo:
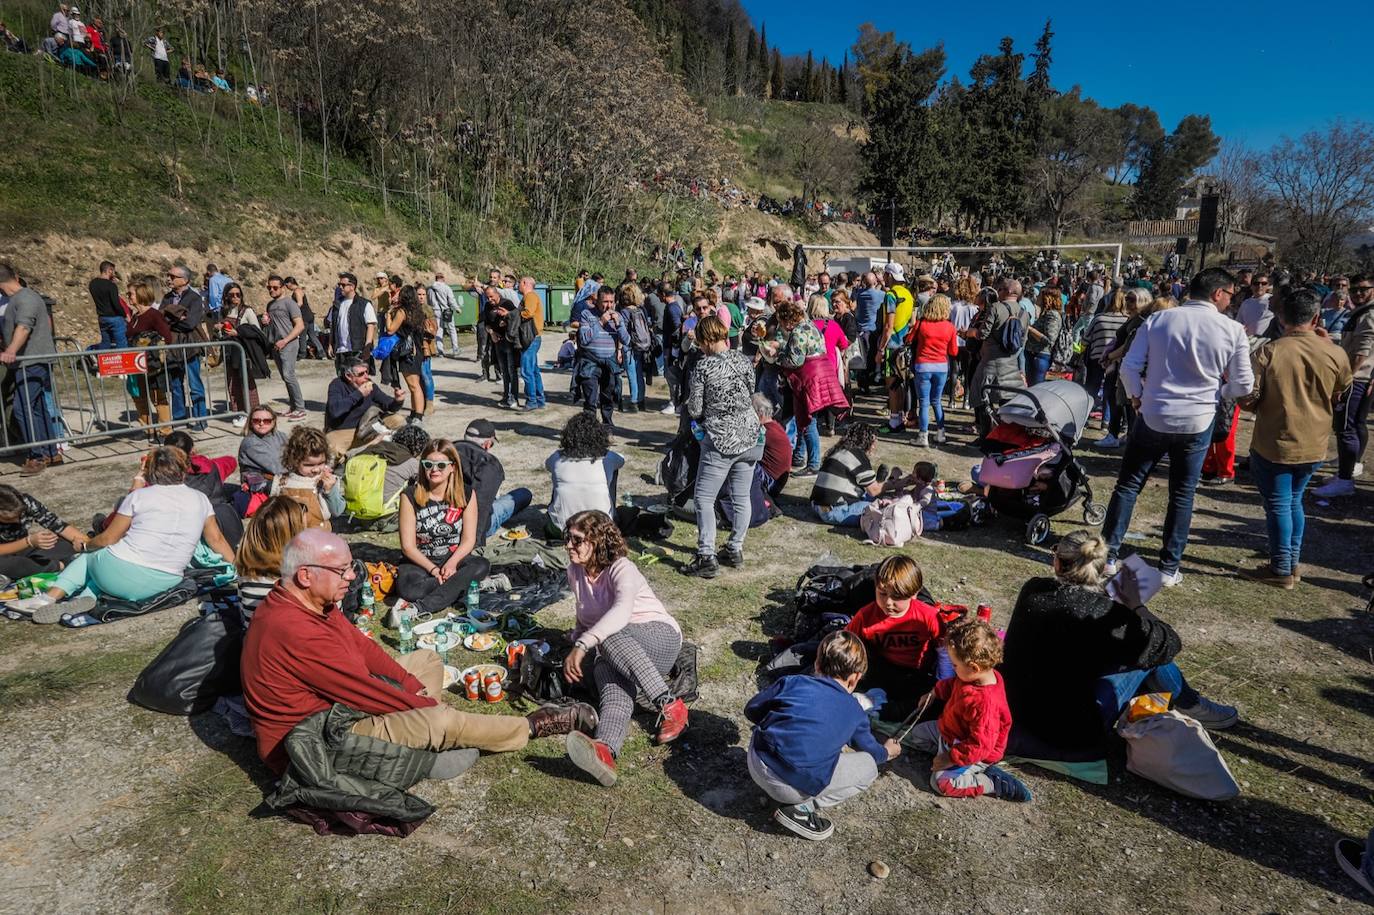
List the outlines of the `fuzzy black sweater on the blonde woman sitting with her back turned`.
<svg viewBox="0 0 1374 915">
<path fill-rule="evenodd" d="M 1102 746 L 1098 679 L 1168 664 L 1182 647 L 1179 633 L 1145 607 L 1032 578 L 1017 595 L 1003 644 L 1011 721 L 1055 747 Z"/>
</svg>

